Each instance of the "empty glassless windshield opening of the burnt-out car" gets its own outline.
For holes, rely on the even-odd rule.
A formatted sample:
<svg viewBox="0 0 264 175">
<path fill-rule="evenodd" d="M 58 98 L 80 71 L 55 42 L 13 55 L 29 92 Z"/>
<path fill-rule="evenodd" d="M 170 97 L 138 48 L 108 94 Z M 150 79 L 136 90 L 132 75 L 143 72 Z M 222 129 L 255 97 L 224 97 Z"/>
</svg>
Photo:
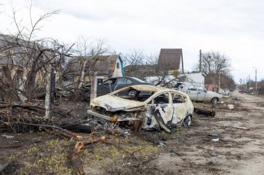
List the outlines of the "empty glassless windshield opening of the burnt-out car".
<svg viewBox="0 0 264 175">
<path fill-rule="evenodd" d="M 138 91 L 136 89 L 130 88 L 130 89 L 125 89 L 123 91 L 114 93 L 113 95 L 119 98 L 127 99 L 127 100 L 133 100 L 136 102 L 144 102 L 154 93 L 155 93 L 154 91 Z"/>
</svg>

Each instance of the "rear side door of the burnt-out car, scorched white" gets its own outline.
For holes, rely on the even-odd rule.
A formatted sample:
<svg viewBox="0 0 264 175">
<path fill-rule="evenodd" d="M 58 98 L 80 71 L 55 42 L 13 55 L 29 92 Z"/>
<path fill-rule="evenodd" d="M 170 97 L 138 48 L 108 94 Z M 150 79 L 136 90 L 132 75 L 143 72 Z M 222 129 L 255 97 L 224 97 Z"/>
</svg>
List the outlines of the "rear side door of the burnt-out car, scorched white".
<svg viewBox="0 0 264 175">
<path fill-rule="evenodd" d="M 172 92 L 172 106 L 174 109 L 172 115 L 172 125 L 176 125 L 185 118 L 188 113 L 187 104 L 185 104 L 185 98 L 179 93 Z"/>
</svg>

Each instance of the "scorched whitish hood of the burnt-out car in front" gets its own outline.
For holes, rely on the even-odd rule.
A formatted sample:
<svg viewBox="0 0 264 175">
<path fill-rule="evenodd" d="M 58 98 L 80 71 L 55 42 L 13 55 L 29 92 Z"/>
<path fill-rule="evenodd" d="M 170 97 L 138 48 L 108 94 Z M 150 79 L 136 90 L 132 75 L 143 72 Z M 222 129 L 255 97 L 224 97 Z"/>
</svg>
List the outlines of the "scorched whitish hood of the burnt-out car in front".
<svg viewBox="0 0 264 175">
<path fill-rule="evenodd" d="M 107 111 L 120 111 L 126 109 L 133 109 L 145 106 L 145 102 L 135 102 L 133 100 L 126 100 L 124 98 L 118 98 L 114 95 L 103 95 L 99 98 L 94 98 L 90 102 L 91 107 L 103 107 Z"/>
</svg>

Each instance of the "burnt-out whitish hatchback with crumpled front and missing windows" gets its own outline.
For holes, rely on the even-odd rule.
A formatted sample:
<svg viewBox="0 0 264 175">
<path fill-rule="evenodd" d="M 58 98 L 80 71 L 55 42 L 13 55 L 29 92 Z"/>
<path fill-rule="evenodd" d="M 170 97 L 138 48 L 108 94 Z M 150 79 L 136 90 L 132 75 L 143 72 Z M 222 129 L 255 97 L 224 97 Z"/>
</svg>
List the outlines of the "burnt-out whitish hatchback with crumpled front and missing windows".
<svg viewBox="0 0 264 175">
<path fill-rule="evenodd" d="M 135 91 L 127 95 L 126 91 Z M 94 98 L 88 114 L 141 129 L 190 126 L 194 107 L 188 95 L 174 89 L 134 85 Z"/>
</svg>

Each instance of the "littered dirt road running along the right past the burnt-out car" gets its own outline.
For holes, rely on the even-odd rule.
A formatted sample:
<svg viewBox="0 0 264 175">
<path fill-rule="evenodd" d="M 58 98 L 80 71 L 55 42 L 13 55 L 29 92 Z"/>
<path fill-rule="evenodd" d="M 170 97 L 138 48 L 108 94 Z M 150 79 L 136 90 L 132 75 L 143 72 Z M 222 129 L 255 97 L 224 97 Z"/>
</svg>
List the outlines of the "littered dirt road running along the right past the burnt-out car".
<svg viewBox="0 0 264 175">
<path fill-rule="evenodd" d="M 215 117 L 196 116 L 192 127 L 148 163 L 154 174 L 263 174 L 264 99 L 233 92 L 235 110 L 214 109 Z M 226 102 L 228 104 L 229 102 Z M 208 134 L 217 133 L 213 141 Z"/>
</svg>

